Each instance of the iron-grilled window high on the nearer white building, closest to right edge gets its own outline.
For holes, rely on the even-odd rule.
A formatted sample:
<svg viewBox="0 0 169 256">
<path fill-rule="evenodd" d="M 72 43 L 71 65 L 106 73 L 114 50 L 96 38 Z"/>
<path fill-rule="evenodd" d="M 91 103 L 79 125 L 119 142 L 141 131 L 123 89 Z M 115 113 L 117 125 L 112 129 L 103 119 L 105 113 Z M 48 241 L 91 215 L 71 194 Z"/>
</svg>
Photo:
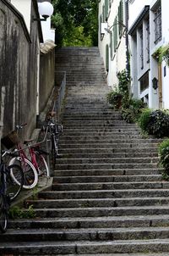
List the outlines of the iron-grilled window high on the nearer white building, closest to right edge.
<svg viewBox="0 0 169 256">
<path fill-rule="evenodd" d="M 161 6 L 155 9 L 155 44 L 161 41 Z"/>
</svg>

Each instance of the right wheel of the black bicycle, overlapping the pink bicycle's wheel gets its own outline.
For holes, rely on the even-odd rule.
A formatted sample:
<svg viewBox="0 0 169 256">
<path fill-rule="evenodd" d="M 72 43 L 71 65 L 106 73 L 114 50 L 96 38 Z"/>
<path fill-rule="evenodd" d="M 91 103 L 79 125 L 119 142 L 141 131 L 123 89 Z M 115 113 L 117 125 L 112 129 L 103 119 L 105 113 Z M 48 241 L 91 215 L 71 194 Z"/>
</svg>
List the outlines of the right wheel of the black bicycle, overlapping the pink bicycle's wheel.
<svg viewBox="0 0 169 256">
<path fill-rule="evenodd" d="M 15 198 L 19 196 L 24 184 L 24 173 L 18 164 L 11 164 L 7 167 L 7 195 L 9 200 L 12 202 Z M 13 179 L 11 174 L 14 174 L 15 178 Z"/>
</svg>

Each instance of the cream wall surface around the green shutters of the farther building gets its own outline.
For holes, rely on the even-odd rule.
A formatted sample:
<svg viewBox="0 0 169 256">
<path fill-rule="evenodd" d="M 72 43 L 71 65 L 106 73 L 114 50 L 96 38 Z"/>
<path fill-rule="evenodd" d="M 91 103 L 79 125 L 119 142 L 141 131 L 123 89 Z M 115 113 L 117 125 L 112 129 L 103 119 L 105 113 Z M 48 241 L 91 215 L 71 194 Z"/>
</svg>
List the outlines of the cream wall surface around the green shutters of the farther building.
<svg viewBox="0 0 169 256">
<path fill-rule="evenodd" d="M 123 24 L 125 24 L 125 1 L 123 2 Z M 108 3 L 108 17 L 106 20 L 103 20 L 103 6 L 106 5 L 106 0 L 101 0 L 99 3 L 99 49 L 101 57 L 103 58 L 105 68 L 106 68 L 106 45 L 108 45 L 109 51 L 109 70 L 106 72 L 108 86 L 116 86 L 117 73 L 119 71 L 126 69 L 126 39 L 123 36 L 118 36 L 118 25 L 115 22 L 116 17 L 118 16 L 120 0 L 107 1 Z M 108 27 L 111 27 L 112 34 L 104 32 L 104 35 L 101 36 L 101 20 L 105 22 Z M 114 49 L 114 30 L 117 29 L 117 47 Z M 112 39 L 111 39 L 112 36 Z M 112 44 L 111 44 L 112 40 Z M 112 45 L 112 53 L 111 53 Z"/>
</svg>

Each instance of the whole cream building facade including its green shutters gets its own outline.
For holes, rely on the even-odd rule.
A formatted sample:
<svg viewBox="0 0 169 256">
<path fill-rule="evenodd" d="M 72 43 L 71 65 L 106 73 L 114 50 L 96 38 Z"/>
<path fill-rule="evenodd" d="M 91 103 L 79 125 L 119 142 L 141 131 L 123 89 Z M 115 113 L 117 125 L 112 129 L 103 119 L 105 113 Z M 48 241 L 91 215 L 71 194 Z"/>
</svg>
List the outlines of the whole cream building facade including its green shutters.
<svg viewBox="0 0 169 256">
<path fill-rule="evenodd" d="M 124 0 L 99 2 L 99 49 L 106 68 L 108 86 L 117 86 L 117 73 L 126 70 L 126 3 Z"/>
</svg>

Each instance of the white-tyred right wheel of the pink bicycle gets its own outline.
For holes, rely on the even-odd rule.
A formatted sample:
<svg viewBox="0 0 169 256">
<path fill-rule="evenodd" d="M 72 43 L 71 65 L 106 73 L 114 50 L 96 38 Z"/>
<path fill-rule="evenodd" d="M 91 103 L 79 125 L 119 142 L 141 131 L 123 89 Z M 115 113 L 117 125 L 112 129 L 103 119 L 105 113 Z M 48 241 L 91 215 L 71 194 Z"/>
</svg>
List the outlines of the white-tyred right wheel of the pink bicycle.
<svg viewBox="0 0 169 256">
<path fill-rule="evenodd" d="M 48 165 L 46 163 L 46 159 L 44 158 L 43 155 L 41 155 L 41 153 L 37 152 L 35 153 L 35 160 L 38 164 L 38 174 L 43 176 L 45 175 L 46 177 L 49 177 L 49 168 Z"/>
</svg>

